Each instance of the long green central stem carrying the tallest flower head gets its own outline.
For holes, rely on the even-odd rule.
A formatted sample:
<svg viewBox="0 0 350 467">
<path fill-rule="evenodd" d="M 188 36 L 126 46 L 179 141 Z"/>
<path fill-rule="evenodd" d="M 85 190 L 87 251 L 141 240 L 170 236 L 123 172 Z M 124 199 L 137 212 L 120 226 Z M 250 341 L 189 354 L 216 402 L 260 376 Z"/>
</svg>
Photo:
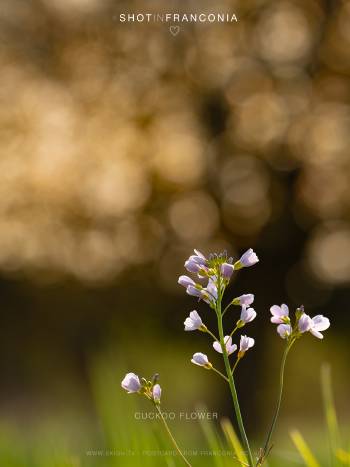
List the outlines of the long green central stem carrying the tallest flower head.
<svg viewBox="0 0 350 467">
<path fill-rule="evenodd" d="M 222 355 L 224 357 L 225 369 L 226 369 L 226 374 L 227 374 L 227 377 L 228 377 L 228 384 L 230 386 L 230 391 L 231 391 L 231 395 L 232 395 L 233 405 L 234 405 L 234 408 L 235 408 L 235 413 L 236 413 L 236 418 L 237 418 L 239 431 L 241 433 L 241 437 L 242 437 L 245 449 L 247 451 L 248 459 L 249 459 L 249 467 L 254 467 L 255 463 L 254 463 L 254 460 L 253 460 L 252 452 L 250 450 L 248 437 L 247 437 L 247 434 L 246 434 L 245 429 L 244 429 L 241 409 L 240 409 L 239 402 L 238 402 L 237 390 L 236 390 L 235 382 L 234 382 L 233 375 L 232 375 L 232 372 L 231 372 L 231 366 L 230 366 L 229 358 L 228 358 L 228 355 L 227 355 L 226 345 L 225 345 L 225 342 L 224 342 L 224 329 L 223 329 L 222 313 L 221 313 L 221 299 L 222 299 L 223 292 L 224 292 L 224 290 L 221 290 L 221 278 L 220 278 L 220 275 L 219 275 L 218 276 L 218 299 L 217 299 L 216 313 L 217 313 L 217 317 L 218 317 L 218 329 L 219 329 L 219 336 L 220 336 L 220 344 L 221 344 L 221 349 L 222 349 Z"/>
</svg>

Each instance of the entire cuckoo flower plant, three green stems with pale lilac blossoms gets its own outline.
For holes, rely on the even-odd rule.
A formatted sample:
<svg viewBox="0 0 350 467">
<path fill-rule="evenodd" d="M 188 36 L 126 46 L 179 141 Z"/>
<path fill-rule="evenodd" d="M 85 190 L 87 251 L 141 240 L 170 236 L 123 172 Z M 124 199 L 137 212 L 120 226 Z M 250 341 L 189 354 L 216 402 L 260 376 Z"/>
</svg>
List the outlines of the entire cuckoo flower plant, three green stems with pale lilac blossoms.
<svg viewBox="0 0 350 467">
<path fill-rule="evenodd" d="M 317 338 L 323 339 L 322 332 L 328 329 L 330 326 L 328 318 L 322 315 L 317 315 L 311 318 L 305 313 L 303 306 L 300 306 L 296 309 L 295 317 L 293 319 L 290 317 L 289 308 L 286 304 L 283 303 L 282 305 L 271 306 L 271 322 L 277 325 L 277 332 L 283 339 L 285 339 L 286 347 L 281 363 L 280 389 L 276 411 L 272 419 L 271 428 L 267 434 L 264 448 L 259 451 L 259 457 L 254 459 L 249 445 L 249 440 L 245 432 L 239 407 L 238 395 L 234 382 L 234 372 L 245 353 L 255 345 L 255 341 L 251 337 L 241 335 L 239 342 L 233 342 L 234 334 L 245 327 L 248 323 L 251 323 L 257 316 L 256 311 L 252 307 L 254 303 L 254 295 L 251 293 L 240 295 L 228 302 L 225 308 L 223 308 L 223 297 L 234 272 L 242 268 L 253 266 L 258 261 L 259 259 L 257 255 L 251 248 L 246 251 L 238 261 L 235 262 L 233 261 L 233 258 L 229 258 L 226 253 L 212 254 L 209 257 L 206 257 L 200 251 L 194 250 L 194 254 L 185 261 L 185 268 L 193 275 L 193 278 L 188 275 L 182 275 L 178 279 L 178 283 L 185 287 L 186 292 L 189 295 L 198 298 L 199 301 L 202 300 L 203 302 L 207 303 L 216 314 L 218 337 L 203 322 L 197 310 L 192 310 L 189 313 L 189 316 L 184 321 L 184 326 L 185 331 L 201 331 L 210 336 L 210 338 L 213 340 L 213 349 L 223 357 L 225 374 L 215 368 L 209 361 L 208 356 L 202 352 L 194 353 L 191 362 L 194 365 L 214 371 L 229 384 L 234 401 L 236 419 L 241 433 L 241 439 L 244 443 L 245 451 L 247 453 L 249 462 L 247 465 L 250 467 L 262 466 L 271 450 L 272 445 L 270 442 L 281 406 L 283 374 L 287 355 L 290 349 L 296 340 L 306 332 L 310 332 Z M 240 307 L 240 313 L 235 321 L 232 321 L 232 331 L 230 333 L 225 333 L 223 317 L 231 306 Z M 229 357 L 233 354 L 236 355 L 236 361 L 234 365 L 231 366 Z M 162 391 L 160 385 L 158 384 L 158 375 L 156 374 L 151 381 L 147 381 L 145 378 L 140 379 L 134 373 L 128 373 L 122 381 L 122 387 L 129 394 L 142 394 L 154 403 L 155 408 L 160 413 L 167 432 L 173 441 L 174 447 L 186 465 L 190 466 L 190 463 L 184 457 L 177 443 L 172 437 L 169 427 L 166 425 L 166 421 L 162 416 L 162 412 L 160 410 L 160 398 Z"/>
</svg>

